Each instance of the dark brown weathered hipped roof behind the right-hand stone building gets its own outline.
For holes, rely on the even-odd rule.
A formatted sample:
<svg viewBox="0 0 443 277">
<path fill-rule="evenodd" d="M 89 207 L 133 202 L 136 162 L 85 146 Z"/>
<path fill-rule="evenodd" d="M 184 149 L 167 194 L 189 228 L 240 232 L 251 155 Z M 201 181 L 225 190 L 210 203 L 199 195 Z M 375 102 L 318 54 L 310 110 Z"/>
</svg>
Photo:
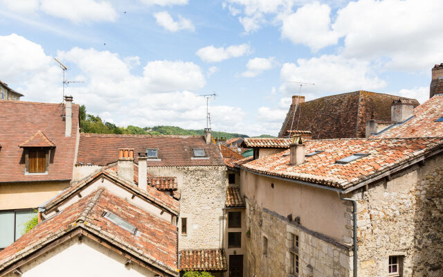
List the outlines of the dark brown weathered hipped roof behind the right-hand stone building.
<svg viewBox="0 0 443 277">
<path fill-rule="evenodd" d="M 325 96 L 298 105 L 293 129 L 312 132 L 312 139 L 342 139 L 365 137 L 365 123 L 374 116 L 376 120 L 391 120 L 392 100 L 400 98 L 385 93 L 354 91 Z M 410 99 L 414 107 L 419 105 Z M 291 129 L 293 111 L 291 105 L 278 136 L 287 137 Z M 301 114 L 300 114 L 301 110 Z M 300 114 L 300 115 L 299 115 Z M 300 120 L 298 119 L 300 117 Z"/>
</svg>

